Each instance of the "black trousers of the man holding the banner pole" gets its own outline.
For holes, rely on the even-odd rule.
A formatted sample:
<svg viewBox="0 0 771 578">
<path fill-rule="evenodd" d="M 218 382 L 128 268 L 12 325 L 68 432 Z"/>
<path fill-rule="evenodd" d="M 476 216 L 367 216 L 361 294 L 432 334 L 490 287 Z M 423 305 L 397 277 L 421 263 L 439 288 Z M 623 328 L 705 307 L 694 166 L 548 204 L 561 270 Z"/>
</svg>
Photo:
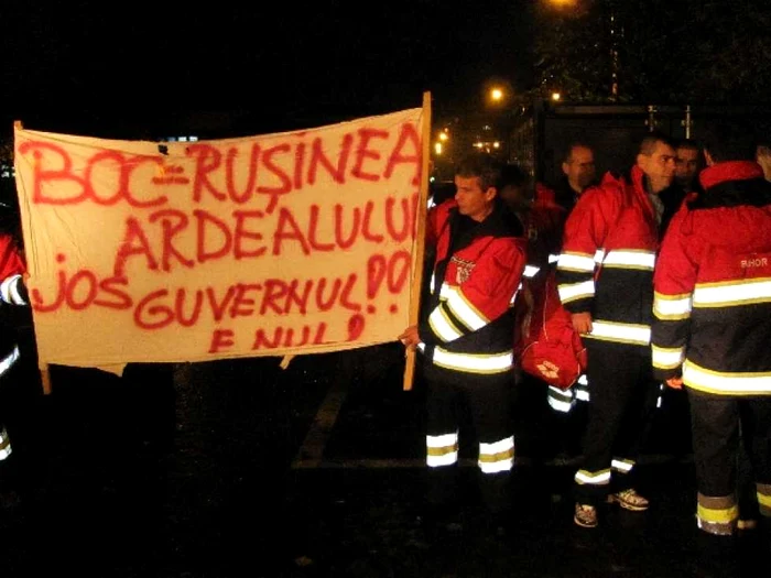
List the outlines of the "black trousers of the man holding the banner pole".
<svg viewBox="0 0 771 578">
<path fill-rule="evenodd" d="M 473 373 L 434 370 L 426 375 L 427 439 L 457 436 L 465 416 L 471 419 L 480 448 L 500 445 L 504 450 L 511 440 L 510 458 L 513 462 L 513 425 L 511 405 L 513 373 L 478 375 Z M 458 448 L 460 440 L 457 440 Z M 490 447 L 490 446 L 487 446 Z M 457 452 L 455 459 L 446 455 L 444 462 L 432 465 L 428 443 L 428 502 L 433 505 L 449 505 L 457 499 Z M 492 513 L 511 509 L 510 466 L 501 456 L 496 468 L 487 471 L 480 460 L 479 489 L 482 502 Z"/>
</svg>

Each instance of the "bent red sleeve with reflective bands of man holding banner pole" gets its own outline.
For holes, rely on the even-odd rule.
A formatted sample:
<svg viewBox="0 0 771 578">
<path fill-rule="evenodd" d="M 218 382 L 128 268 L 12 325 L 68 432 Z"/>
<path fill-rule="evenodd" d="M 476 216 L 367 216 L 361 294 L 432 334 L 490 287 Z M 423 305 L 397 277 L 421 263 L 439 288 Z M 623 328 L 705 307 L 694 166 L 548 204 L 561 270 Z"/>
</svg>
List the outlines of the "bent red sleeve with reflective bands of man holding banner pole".
<svg viewBox="0 0 771 578">
<path fill-rule="evenodd" d="M 420 327 L 428 345 L 446 343 L 480 330 L 509 310 L 525 265 L 524 242 L 493 242 L 482 254 L 468 280 L 443 291 L 445 298 Z"/>
</svg>

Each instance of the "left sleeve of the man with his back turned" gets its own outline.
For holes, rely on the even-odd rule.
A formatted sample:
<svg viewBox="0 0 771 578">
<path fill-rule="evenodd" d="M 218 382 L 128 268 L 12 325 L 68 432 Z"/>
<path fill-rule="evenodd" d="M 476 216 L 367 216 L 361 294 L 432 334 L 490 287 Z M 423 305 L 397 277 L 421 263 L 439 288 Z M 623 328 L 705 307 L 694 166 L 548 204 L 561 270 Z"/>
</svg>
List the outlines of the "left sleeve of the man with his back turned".
<svg viewBox="0 0 771 578">
<path fill-rule="evenodd" d="M 691 336 L 691 309 L 703 243 L 693 238 L 693 214 L 681 209 L 664 236 L 653 275 L 651 349 L 659 380 L 680 377 Z"/>
</svg>

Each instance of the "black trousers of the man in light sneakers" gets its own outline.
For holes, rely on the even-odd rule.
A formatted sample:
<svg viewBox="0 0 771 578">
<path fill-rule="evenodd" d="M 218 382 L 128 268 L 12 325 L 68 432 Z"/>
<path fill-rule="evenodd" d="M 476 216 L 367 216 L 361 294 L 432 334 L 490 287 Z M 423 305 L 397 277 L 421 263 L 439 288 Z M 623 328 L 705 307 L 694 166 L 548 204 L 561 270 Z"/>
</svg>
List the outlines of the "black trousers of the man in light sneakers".
<svg viewBox="0 0 771 578">
<path fill-rule="evenodd" d="M 576 501 L 596 504 L 609 491 L 634 486 L 637 461 L 655 410 L 650 350 L 585 339 L 590 396 L 584 462 L 575 477 Z"/>
</svg>

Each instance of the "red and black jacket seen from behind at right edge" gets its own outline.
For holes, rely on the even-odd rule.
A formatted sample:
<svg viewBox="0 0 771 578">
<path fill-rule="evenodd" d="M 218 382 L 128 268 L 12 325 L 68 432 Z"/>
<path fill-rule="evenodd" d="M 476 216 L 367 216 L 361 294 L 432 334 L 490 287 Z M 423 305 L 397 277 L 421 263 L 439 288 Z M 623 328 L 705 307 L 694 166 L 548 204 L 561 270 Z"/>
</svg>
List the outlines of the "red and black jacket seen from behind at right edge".
<svg viewBox="0 0 771 578">
<path fill-rule="evenodd" d="M 724 395 L 771 395 L 771 184 L 753 162 L 702 172 L 654 279 L 653 369 Z"/>
</svg>

